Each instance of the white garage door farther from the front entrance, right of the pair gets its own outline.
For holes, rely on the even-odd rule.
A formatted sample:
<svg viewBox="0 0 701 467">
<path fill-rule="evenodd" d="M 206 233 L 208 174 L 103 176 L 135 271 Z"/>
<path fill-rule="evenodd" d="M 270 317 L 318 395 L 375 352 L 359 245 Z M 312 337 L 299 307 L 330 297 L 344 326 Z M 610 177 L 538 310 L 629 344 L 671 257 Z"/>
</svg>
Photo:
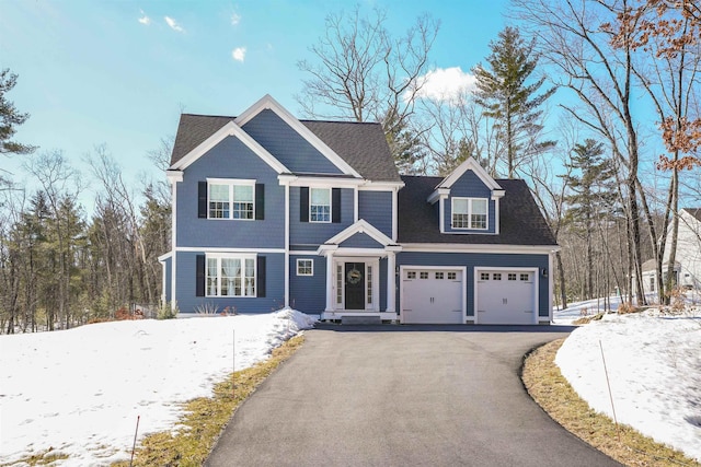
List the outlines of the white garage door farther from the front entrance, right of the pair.
<svg viewBox="0 0 701 467">
<path fill-rule="evenodd" d="M 478 324 L 536 324 L 535 271 L 476 270 Z"/>
</svg>

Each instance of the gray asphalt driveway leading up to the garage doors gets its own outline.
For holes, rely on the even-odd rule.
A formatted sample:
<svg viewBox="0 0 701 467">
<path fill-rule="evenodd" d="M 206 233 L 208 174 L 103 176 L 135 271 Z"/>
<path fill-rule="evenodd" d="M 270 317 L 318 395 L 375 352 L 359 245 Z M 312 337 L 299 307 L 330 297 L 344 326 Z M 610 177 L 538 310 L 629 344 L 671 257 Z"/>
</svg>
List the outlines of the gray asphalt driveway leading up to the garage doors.
<svg viewBox="0 0 701 467">
<path fill-rule="evenodd" d="M 570 328 L 325 326 L 235 412 L 207 466 L 613 466 L 526 394 Z"/>
</svg>

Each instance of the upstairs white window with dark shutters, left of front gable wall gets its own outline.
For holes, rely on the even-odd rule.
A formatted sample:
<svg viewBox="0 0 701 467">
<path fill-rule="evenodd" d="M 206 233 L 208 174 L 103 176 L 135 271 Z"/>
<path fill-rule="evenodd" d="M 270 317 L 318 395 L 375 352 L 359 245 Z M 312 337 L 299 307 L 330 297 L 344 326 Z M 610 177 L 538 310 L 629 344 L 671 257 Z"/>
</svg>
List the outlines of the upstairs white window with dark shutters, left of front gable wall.
<svg viewBox="0 0 701 467">
<path fill-rule="evenodd" d="M 209 182 L 208 194 L 209 219 L 254 219 L 255 180 Z"/>
</svg>

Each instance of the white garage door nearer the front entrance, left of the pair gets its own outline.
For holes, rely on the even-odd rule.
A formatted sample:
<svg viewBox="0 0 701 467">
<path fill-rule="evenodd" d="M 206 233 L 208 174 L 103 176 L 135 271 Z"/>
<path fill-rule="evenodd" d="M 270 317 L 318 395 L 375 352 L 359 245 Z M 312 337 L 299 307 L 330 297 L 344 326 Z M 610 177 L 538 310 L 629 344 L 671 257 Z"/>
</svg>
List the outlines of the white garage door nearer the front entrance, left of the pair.
<svg viewBox="0 0 701 467">
<path fill-rule="evenodd" d="M 462 270 L 404 269 L 402 322 L 462 324 Z"/>
</svg>

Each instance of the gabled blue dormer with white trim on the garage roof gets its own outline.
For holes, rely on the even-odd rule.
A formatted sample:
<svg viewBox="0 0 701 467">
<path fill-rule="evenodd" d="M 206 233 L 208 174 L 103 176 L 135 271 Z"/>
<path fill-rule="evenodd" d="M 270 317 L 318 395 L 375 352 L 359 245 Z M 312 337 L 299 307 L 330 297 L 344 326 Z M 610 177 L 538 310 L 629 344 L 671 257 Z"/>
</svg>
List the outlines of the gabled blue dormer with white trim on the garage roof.
<svg viewBox="0 0 701 467">
<path fill-rule="evenodd" d="M 444 178 L 427 201 L 438 211 L 440 233 L 499 233 L 499 199 L 504 189 L 472 157 Z"/>
</svg>

